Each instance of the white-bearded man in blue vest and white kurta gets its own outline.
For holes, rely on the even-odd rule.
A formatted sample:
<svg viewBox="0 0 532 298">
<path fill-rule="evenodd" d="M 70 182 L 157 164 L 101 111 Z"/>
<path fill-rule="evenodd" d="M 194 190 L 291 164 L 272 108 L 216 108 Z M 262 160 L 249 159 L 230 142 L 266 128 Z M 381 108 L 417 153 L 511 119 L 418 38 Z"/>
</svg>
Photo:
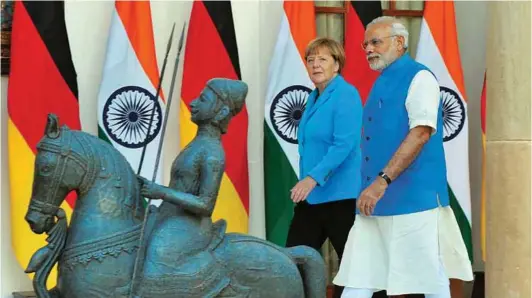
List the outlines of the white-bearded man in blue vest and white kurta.
<svg viewBox="0 0 532 298">
<path fill-rule="evenodd" d="M 364 107 L 360 216 L 334 283 L 344 298 L 450 298 L 449 279 L 473 275 L 449 206 L 438 81 L 395 18 L 372 21 L 362 47 L 380 75 Z"/>
</svg>

